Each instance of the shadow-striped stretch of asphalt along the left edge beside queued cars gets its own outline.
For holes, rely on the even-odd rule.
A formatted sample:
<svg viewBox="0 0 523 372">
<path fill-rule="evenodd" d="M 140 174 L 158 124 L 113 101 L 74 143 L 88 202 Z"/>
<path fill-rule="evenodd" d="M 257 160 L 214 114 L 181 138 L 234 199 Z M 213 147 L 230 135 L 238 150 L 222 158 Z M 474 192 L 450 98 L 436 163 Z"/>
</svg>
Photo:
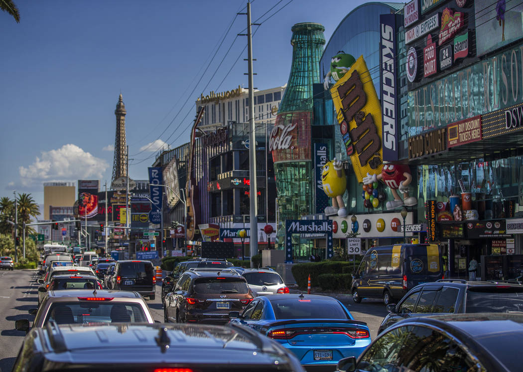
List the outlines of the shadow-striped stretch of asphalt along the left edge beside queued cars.
<svg viewBox="0 0 523 372">
<path fill-rule="evenodd" d="M 25 332 L 15 329 L 15 321 L 29 319 L 28 310 L 38 306 L 37 270 L 0 271 L 0 370 L 10 371 L 24 341 Z"/>
</svg>

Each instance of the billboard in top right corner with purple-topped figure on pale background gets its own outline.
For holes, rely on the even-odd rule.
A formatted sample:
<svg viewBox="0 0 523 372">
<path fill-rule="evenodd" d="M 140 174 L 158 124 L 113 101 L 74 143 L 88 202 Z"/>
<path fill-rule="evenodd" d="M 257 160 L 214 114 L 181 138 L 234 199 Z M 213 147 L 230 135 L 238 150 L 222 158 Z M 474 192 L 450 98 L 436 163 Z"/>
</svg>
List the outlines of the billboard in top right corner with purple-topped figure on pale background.
<svg viewBox="0 0 523 372">
<path fill-rule="evenodd" d="M 475 0 L 478 56 L 523 37 L 523 4 L 518 0 Z"/>
</svg>

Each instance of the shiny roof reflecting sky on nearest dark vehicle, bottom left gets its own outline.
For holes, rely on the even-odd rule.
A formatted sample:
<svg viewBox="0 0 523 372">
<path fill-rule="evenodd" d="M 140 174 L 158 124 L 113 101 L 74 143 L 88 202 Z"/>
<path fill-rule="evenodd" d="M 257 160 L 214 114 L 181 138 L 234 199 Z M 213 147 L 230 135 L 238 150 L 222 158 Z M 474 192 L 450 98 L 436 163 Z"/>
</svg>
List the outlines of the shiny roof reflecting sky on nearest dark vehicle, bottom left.
<svg viewBox="0 0 523 372">
<path fill-rule="evenodd" d="M 297 359 L 280 345 L 236 325 L 50 324 L 31 332 L 38 334 L 35 340 L 46 345 L 41 347 L 44 357 L 54 363 L 69 364 L 74 360 L 76 366 L 118 363 L 138 367 L 143 363 L 157 365 L 162 360 L 191 367 L 212 365 L 217 369 L 245 364 L 270 366 L 268 370 L 302 370 L 296 365 Z M 118 350 L 126 352 L 115 352 Z M 289 366 L 291 363 L 294 365 Z"/>
</svg>

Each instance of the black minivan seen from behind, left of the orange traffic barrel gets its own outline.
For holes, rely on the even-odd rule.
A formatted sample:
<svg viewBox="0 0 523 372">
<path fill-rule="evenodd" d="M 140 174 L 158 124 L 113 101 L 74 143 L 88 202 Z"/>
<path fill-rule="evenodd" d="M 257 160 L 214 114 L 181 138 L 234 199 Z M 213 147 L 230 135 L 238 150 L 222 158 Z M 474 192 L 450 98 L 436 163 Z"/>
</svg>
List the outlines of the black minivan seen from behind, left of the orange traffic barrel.
<svg viewBox="0 0 523 372">
<path fill-rule="evenodd" d="M 117 261 L 115 273 L 111 277 L 110 288 L 119 291 L 136 291 L 154 300 L 156 296 L 156 276 L 153 263 L 144 260 Z"/>
</svg>

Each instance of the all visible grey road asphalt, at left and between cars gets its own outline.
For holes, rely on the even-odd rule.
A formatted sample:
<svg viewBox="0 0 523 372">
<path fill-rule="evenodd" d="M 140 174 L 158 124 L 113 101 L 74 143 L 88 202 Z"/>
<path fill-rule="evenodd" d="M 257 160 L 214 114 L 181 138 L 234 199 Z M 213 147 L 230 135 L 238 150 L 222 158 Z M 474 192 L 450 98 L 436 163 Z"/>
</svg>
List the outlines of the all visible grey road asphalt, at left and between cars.
<svg viewBox="0 0 523 372">
<path fill-rule="evenodd" d="M 36 270 L 0 271 L 0 371 L 10 371 L 24 340 L 25 332 L 15 330 L 15 320 L 27 318 L 32 323 L 34 315 L 28 310 L 38 305 L 38 278 Z M 156 299 L 147 301 L 154 319 L 163 322 L 163 308 L 160 299 L 161 286 L 156 287 Z M 386 315 L 382 301 L 363 300 L 356 304 L 348 296 L 338 296 L 356 320 L 366 322 L 372 339 L 376 337 L 381 320 Z"/>
</svg>

